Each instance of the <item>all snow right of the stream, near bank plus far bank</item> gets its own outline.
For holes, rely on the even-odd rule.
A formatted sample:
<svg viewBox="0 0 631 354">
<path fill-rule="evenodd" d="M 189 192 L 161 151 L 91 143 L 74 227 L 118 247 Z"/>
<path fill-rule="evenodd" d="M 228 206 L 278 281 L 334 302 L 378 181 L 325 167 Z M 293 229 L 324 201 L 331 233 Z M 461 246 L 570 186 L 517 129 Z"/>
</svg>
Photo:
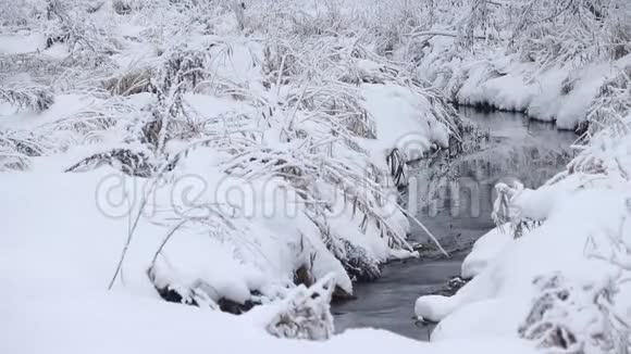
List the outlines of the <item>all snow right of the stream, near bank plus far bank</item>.
<svg viewBox="0 0 631 354">
<path fill-rule="evenodd" d="M 516 7 L 519 5 L 516 2 Z M 621 16 L 629 15 L 629 8 L 613 9 Z M 461 276 L 472 279 L 453 296 L 420 296 L 415 303 L 415 313 L 419 318 L 440 321 L 432 336 L 433 342 L 527 338 L 543 350 L 565 350 L 562 344 L 554 343 L 554 338 L 541 334 L 558 326 L 568 328 L 578 345 L 582 345 L 581 351 L 602 353 L 607 351 L 606 345 L 613 344 L 609 341 L 601 345 L 603 341 L 598 336 L 605 333 L 603 338 L 607 338 L 613 336 L 607 333 L 614 332 L 603 325 L 607 321 L 603 317 L 609 311 L 622 317 L 629 314 L 629 306 L 622 301 L 613 302 L 615 309 L 595 305 L 599 300 L 595 300 L 594 293 L 611 291 L 616 292 L 616 298 L 629 296 L 623 281 L 616 280 L 620 273 L 622 278 L 629 274 L 627 261 L 619 261 L 628 258 L 628 251 L 614 251 L 616 246 L 611 245 L 627 242 L 627 249 L 621 248 L 628 250 L 631 235 L 626 223 L 629 214 L 626 205 L 631 197 L 627 173 L 631 167 L 627 134 L 630 117 L 622 98 L 629 91 L 628 86 L 622 85 L 618 93 L 622 96 L 607 97 L 614 93 L 607 93 L 606 85 L 615 77 L 628 80 L 623 73 L 628 72 L 631 55 L 626 52 L 617 58 L 601 55 L 603 53 L 590 56 L 585 49 L 572 53 L 580 58 L 555 60 L 558 52 L 552 48 L 539 48 L 537 51 L 528 47 L 537 46 L 539 39 L 532 33 L 521 39 L 511 37 L 519 34 L 508 29 L 514 23 L 510 16 L 502 17 L 503 12 L 502 5 L 488 10 L 484 15 L 494 20 L 478 25 L 492 29 L 484 27 L 484 31 L 474 31 L 485 36 L 493 33 L 492 36 L 497 35 L 496 41 L 477 41 L 468 48 L 470 50 L 461 50 L 458 38 L 426 37 L 417 68 L 419 75 L 445 89 L 459 104 L 524 112 L 531 118 L 554 122 L 559 129 L 576 129 L 593 110 L 604 116 L 611 115 L 616 124 L 590 122 L 591 134 L 603 130 L 587 136 L 587 146 L 580 148 L 581 153 L 567 170 L 544 186 L 535 190 L 520 184 L 500 186 L 498 190 L 507 197 L 508 205 L 494 216 L 498 223 L 509 223 L 491 230 L 473 245 L 461 267 Z M 530 15 L 528 10 L 527 15 Z M 460 18 L 467 22 L 477 17 L 465 15 Z M 440 25 L 449 26 L 446 20 L 442 23 L 438 20 L 434 28 L 444 30 Z M 558 25 L 562 27 L 571 21 L 559 21 Z M 455 30 L 459 30 L 457 26 Z M 504 35 L 511 38 L 510 45 L 497 40 Z M 593 35 L 598 36 L 596 30 Z M 547 40 L 556 40 L 553 38 L 554 35 L 548 36 Z M 562 40 L 566 41 L 556 41 L 556 50 L 571 47 L 582 38 Z M 585 46 L 598 50 L 599 45 L 594 41 Z M 601 108 L 601 94 L 613 102 Z M 593 115 L 590 118 L 593 119 Z M 495 206 L 497 212 L 502 205 Z M 546 294 L 549 296 L 552 290 L 541 288 L 540 283 L 545 281 L 542 279 L 561 279 L 557 281 L 572 296 L 571 308 L 564 307 L 565 303 L 546 303 L 549 301 Z M 615 283 L 616 290 L 606 288 L 604 283 L 607 282 Z M 533 323 L 536 320 L 540 323 Z M 622 329 L 620 336 L 628 333 Z M 621 340 L 628 345 L 628 337 Z"/>
</svg>

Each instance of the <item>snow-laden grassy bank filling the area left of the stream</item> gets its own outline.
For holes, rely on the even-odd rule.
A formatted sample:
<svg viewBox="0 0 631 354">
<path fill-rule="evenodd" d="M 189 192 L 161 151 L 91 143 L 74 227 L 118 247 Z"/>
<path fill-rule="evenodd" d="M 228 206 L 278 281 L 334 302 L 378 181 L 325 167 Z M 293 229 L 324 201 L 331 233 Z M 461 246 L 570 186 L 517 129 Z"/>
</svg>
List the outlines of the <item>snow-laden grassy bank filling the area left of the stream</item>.
<svg viewBox="0 0 631 354">
<path fill-rule="evenodd" d="M 275 343 L 245 317 L 224 330 L 237 320 L 163 304 L 156 288 L 183 298 L 202 292 L 211 308 L 222 301 L 272 306 L 296 287 L 299 268 L 312 278 L 302 281 L 332 277 L 336 291 L 351 295 L 349 262 L 379 270 L 391 258 L 417 255 L 405 241 L 409 222 L 396 206 L 385 156 L 410 129 L 428 141 L 423 152 L 446 147 L 453 131 L 436 121 L 420 87 L 381 72 L 385 59 L 350 60 L 384 81 L 355 87 L 338 77 L 346 56 L 307 73 L 304 61 L 335 52 L 337 39 L 322 47 L 317 36 L 300 34 L 295 43 L 313 48 L 276 63 L 269 55 L 285 55 L 281 39 L 299 31 L 281 28 L 282 18 L 258 23 L 261 11 L 271 14 L 264 2 L 251 3 L 247 29 L 223 4 L 151 2 L 128 15 L 116 14 L 111 1 L 91 12 L 88 5 L 0 5 L 23 16 L 0 22 L 0 53 L 10 59 L 0 78 L 12 83 L 2 89 L 16 87 L 28 99 L 36 97 L 33 85 L 53 97 L 44 110 L 22 104 L 21 96 L 0 103 L 0 279 L 13 289 L 0 312 L 16 319 L 14 332 L 4 331 L 15 339 L 2 341 L 9 352 L 37 345 L 85 352 L 99 336 L 115 338 L 95 349 L 102 352 L 216 349 L 202 328 L 231 342 L 224 333 L 239 332 L 242 324 L 256 327 L 250 337 Z M 170 72 L 190 58 L 202 66 L 198 85 L 183 86 L 182 94 L 169 89 L 171 79 L 197 73 Z M 273 77 L 279 69 L 283 77 Z M 138 78 L 152 86 L 117 92 Z M 344 110 L 321 108 L 337 96 Z M 352 130 L 348 121 L 361 119 L 357 113 L 375 131 Z M 166 140 L 163 150 L 145 130 L 151 119 L 168 122 L 157 138 Z M 124 159 L 147 164 L 149 174 L 171 159 L 176 167 L 134 177 L 120 170 L 129 163 Z M 60 313 L 63 323 L 50 326 Z M 20 346 L 26 336 L 42 340 Z M 162 338 L 169 344 L 151 345 Z"/>
</svg>

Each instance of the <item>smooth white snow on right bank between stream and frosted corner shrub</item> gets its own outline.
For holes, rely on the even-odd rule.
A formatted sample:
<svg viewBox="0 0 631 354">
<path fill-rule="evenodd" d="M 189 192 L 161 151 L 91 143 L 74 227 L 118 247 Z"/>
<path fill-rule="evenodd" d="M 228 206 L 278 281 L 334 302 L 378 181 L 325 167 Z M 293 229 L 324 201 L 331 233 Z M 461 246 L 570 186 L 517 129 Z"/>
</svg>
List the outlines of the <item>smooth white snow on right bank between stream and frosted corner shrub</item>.
<svg viewBox="0 0 631 354">
<path fill-rule="evenodd" d="M 630 197 L 628 182 L 620 182 L 614 172 L 611 177 L 569 174 L 514 195 L 511 205 L 523 207 L 520 215 L 540 217 L 543 224 L 517 239 L 506 225 L 486 233 L 462 264 L 462 276 L 473 277 L 469 283 L 450 298 L 417 300 L 417 316 L 441 321 L 432 340 L 517 338 L 518 327 L 539 295 L 536 279 L 560 274 L 583 289 L 611 279 L 616 267 L 590 256 L 586 249 L 594 243 L 608 254 L 611 232 L 622 232 L 628 241 L 631 233 L 623 220 Z"/>
</svg>

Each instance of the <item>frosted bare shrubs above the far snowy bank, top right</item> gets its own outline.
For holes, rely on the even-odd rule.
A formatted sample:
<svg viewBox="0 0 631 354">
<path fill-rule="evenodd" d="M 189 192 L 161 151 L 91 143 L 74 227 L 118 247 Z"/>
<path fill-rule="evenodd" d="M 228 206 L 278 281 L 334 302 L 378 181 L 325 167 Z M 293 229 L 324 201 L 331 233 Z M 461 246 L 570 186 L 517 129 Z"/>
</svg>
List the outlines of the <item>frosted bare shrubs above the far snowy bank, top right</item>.
<svg viewBox="0 0 631 354">
<path fill-rule="evenodd" d="M 465 48 L 504 42 L 540 65 L 616 60 L 630 49 L 631 8 L 623 0 L 469 0 L 459 10 L 456 29 Z"/>
</svg>

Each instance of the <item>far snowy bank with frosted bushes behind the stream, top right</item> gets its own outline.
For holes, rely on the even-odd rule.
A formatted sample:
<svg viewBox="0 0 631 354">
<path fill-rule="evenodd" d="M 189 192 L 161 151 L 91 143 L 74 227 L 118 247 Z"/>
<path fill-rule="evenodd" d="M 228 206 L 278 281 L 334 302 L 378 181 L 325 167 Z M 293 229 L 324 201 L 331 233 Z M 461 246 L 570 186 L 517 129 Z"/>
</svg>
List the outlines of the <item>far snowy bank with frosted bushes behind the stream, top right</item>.
<svg viewBox="0 0 631 354">
<path fill-rule="evenodd" d="M 584 132 L 590 105 L 631 58 L 628 1 L 454 1 L 411 33 L 419 74 L 467 105 Z M 607 93 L 606 93 L 607 94 Z"/>
</svg>

